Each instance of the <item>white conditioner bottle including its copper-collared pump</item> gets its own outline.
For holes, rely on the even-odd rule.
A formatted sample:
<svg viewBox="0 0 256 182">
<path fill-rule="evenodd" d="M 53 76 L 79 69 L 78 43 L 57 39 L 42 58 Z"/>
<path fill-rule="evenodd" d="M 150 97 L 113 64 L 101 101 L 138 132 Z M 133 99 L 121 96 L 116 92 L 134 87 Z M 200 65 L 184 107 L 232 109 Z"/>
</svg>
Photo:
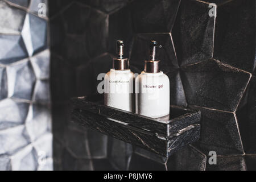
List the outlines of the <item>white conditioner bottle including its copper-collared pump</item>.
<svg viewBox="0 0 256 182">
<path fill-rule="evenodd" d="M 117 58 L 113 68 L 105 75 L 104 103 L 122 110 L 134 111 L 134 73 L 129 69 L 127 58 L 123 58 L 123 41 L 117 40 Z"/>
</svg>

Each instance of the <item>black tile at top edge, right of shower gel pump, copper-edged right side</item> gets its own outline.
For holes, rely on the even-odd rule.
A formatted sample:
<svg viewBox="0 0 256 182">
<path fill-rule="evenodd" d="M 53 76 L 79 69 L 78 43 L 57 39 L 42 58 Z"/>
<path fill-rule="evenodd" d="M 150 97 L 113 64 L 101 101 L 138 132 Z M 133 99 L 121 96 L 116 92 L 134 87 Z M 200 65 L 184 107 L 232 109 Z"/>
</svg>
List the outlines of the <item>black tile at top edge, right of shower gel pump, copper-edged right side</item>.
<svg viewBox="0 0 256 182">
<path fill-rule="evenodd" d="M 172 30 L 180 65 L 212 57 L 214 16 L 209 16 L 207 3 L 181 1 Z"/>
</svg>

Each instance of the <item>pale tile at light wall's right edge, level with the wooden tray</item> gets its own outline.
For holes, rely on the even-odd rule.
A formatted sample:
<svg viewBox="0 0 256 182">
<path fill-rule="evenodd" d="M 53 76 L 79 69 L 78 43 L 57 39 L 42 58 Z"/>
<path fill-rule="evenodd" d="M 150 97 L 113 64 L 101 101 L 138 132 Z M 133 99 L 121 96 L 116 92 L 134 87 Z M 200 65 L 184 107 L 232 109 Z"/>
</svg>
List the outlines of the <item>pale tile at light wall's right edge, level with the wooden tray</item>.
<svg viewBox="0 0 256 182">
<path fill-rule="evenodd" d="M 46 105 L 30 105 L 26 120 L 26 129 L 32 141 L 47 132 L 51 122 L 51 111 Z"/>
</svg>

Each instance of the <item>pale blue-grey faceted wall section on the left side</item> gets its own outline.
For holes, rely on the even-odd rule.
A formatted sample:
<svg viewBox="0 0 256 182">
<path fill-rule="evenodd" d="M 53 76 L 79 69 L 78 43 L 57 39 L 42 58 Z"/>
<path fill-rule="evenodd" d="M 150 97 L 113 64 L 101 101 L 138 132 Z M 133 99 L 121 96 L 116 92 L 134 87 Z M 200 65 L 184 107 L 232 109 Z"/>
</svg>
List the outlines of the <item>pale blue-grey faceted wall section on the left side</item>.
<svg viewBox="0 0 256 182">
<path fill-rule="evenodd" d="M 38 4 L 0 1 L 0 168 L 52 170 L 47 17 Z"/>
</svg>

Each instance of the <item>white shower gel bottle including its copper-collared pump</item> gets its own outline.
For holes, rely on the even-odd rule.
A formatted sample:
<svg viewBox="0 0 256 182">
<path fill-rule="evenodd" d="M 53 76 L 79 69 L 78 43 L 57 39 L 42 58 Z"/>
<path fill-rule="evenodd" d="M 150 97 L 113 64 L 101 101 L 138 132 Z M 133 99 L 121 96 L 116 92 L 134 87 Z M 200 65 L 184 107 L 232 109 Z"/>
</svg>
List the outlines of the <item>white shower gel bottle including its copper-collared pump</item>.
<svg viewBox="0 0 256 182">
<path fill-rule="evenodd" d="M 157 44 L 150 42 L 150 60 L 144 61 L 144 71 L 135 80 L 135 110 L 137 114 L 151 118 L 169 119 L 170 81 L 159 70 L 155 60 Z"/>
</svg>

